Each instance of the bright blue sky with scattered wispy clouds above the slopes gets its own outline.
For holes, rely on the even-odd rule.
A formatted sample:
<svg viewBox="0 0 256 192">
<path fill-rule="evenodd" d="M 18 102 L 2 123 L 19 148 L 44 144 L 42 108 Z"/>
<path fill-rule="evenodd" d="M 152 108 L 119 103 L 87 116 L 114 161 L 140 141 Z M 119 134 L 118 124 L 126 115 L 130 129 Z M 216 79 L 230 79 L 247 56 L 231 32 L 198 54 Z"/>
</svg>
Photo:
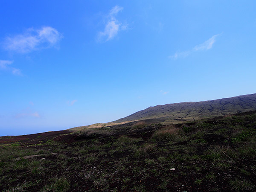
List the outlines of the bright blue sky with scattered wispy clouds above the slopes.
<svg viewBox="0 0 256 192">
<path fill-rule="evenodd" d="M 0 1 L 0 136 L 256 93 L 256 1 Z"/>
</svg>

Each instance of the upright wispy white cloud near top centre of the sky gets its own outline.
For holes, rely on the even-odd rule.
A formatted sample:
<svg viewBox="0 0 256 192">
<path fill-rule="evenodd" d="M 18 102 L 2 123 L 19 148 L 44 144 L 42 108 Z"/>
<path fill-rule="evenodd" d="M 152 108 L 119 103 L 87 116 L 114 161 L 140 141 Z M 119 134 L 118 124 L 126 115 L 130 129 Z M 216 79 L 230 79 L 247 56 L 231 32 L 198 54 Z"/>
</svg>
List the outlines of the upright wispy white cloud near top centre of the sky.
<svg viewBox="0 0 256 192">
<path fill-rule="evenodd" d="M 114 6 L 108 16 L 105 29 L 98 33 L 98 41 L 112 40 L 120 30 L 127 29 L 127 24 L 123 24 L 116 19 L 116 15 L 123 10 L 123 7 Z"/>
</svg>

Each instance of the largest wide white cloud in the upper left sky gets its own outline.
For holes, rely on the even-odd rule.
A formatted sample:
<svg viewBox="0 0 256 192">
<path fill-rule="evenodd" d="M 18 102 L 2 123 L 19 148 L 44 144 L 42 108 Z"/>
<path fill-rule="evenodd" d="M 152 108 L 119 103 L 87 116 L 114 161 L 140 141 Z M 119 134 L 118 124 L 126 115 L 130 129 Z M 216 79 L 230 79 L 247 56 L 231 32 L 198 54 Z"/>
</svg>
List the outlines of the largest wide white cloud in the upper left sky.
<svg viewBox="0 0 256 192">
<path fill-rule="evenodd" d="M 4 49 L 19 53 L 27 53 L 38 49 L 54 47 L 63 36 L 50 26 L 41 29 L 30 28 L 25 33 L 6 37 Z"/>
</svg>

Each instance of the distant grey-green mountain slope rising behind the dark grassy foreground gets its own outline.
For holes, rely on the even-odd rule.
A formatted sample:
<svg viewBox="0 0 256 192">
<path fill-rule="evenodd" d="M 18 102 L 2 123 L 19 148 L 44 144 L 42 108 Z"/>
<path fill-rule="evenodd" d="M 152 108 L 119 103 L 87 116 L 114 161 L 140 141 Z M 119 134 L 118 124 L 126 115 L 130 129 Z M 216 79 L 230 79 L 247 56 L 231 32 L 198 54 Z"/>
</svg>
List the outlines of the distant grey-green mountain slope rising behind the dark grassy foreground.
<svg viewBox="0 0 256 192">
<path fill-rule="evenodd" d="M 256 110 L 256 93 L 204 102 L 157 105 L 113 121 L 113 123 L 146 119 L 178 123 L 253 110 Z"/>
</svg>

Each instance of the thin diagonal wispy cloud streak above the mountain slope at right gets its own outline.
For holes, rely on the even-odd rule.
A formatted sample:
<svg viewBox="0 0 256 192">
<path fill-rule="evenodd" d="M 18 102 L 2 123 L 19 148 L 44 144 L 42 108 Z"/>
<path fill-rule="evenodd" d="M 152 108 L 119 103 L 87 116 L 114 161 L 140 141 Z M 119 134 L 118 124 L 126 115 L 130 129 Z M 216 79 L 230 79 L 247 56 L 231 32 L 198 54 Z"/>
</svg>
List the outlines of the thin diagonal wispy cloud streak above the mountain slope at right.
<svg viewBox="0 0 256 192">
<path fill-rule="evenodd" d="M 218 37 L 221 34 L 213 35 L 207 41 L 204 41 L 204 43 L 196 45 L 193 49 L 190 49 L 188 51 L 176 52 L 174 55 L 169 56 L 169 58 L 173 58 L 173 59 L 184 58 L 189 56 L 193 52 L 209 50 L 212 48 L 212 45 L 215 43 L 216 37 Z"/>
</svg>

